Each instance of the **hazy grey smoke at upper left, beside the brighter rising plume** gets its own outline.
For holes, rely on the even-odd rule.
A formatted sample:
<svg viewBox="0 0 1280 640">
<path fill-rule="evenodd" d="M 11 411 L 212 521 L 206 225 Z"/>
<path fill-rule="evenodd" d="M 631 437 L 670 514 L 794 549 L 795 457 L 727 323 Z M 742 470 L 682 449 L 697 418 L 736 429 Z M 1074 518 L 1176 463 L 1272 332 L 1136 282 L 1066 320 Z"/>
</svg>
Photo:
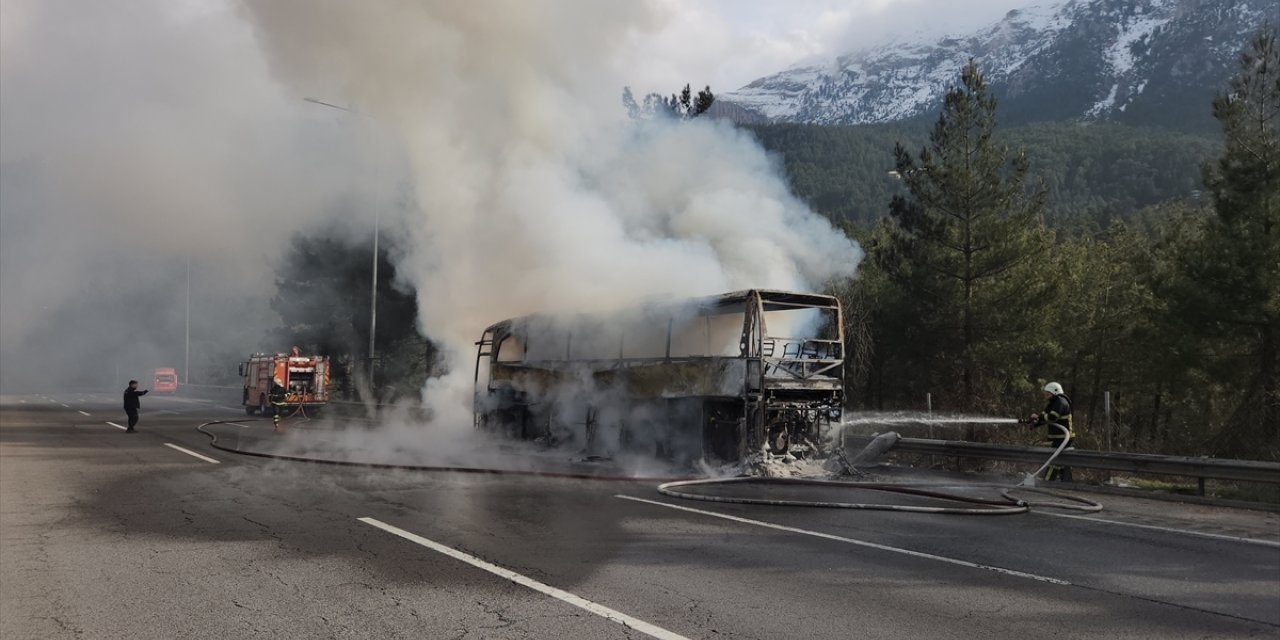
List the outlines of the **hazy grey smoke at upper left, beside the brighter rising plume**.
<svg viewBox="0 0 1280 640">
<path fill-rule="evenodd" d="M 264 342 L 275 262 L 361 204 L 362 150 L 280 91 L 229 4 L 4 0 L 0 385 L 184 374 L 188 291 L 193 381 L 287 349 Z"/>
</svg>

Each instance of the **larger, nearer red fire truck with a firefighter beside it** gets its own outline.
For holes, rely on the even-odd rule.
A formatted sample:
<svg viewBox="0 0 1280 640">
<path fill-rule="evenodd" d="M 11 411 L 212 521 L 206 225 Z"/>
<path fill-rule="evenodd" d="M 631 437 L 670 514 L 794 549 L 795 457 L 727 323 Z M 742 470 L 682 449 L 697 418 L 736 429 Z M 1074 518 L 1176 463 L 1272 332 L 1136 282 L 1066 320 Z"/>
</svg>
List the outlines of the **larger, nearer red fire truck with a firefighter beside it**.
<svg viewBox="0 0 1280 640">
<path fill-rule="evenodd" d="M 273 379 L 284 387 L 289 411 L 302 407 L 316 416 L 329 402 L 329 356 L 302 356 L 297 347 L 292 353 L 253 353 L 241 362 L 239 375 L 244 383 L 241 403 L 251 416 L 270 415 Z"/>
</svg>

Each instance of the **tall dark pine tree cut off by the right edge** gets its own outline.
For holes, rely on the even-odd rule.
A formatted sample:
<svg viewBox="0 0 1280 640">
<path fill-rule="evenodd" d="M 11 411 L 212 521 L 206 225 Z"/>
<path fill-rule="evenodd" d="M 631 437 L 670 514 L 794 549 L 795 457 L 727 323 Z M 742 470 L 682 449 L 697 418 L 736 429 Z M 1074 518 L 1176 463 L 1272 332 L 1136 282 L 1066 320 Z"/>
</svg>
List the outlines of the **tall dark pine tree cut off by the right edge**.
<svg viewBox="0 0 1280 640">
<path fill-rule="evenodd" d="M 1170 308 L 1198 329 L 1206 367 L 1242 392 L 1217 453 L 1280 454 L 1280 46 L 1263 28 L 1213 100 L 1222 156 L 1204 169 L 1213 215 L 1179 251 Z M 1234 379 L 1231 379 L 1234 378 Z"/>
</svg>

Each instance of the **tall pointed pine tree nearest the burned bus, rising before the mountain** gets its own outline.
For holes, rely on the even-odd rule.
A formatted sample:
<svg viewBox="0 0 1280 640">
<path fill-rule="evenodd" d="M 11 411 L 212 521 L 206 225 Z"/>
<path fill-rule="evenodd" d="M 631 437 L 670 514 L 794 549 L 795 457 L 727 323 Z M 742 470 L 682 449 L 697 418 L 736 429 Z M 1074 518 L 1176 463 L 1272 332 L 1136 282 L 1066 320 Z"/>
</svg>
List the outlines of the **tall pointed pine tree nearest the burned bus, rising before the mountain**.
<svg viewBox="0 0 1280 640">
<path fill-rule="evenodd" d="M 1029 189 L 1027 156 L 992 142 L 996 100 L 973 60 L 960 81 L 919 159 L 895 150 L 908 195 L 893 197 L 874 257 L 920 323 L 929 383 L 975 408 L 1025 384 L 1052 305 L 1051 255 L 1043 186 Z"/>
</svg>

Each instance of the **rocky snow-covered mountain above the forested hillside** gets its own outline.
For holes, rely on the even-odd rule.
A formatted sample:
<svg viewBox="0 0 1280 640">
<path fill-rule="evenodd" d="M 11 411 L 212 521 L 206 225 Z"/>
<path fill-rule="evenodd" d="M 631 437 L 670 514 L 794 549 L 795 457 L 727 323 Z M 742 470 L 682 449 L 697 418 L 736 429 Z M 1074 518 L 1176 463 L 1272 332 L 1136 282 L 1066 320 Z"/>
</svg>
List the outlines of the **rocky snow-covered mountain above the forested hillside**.
<svg viewBox="0 0 1280 640">
<path fill-rule="evenodd" d="M 1198 127 L 1239 51 L 1280 0 L 1057 0 L 973 33 L 902 38 L 797 65 L 717 96 L 739 120 L 882 123 L 938 109 L 969 58 L 1001 120 L 1111 119 Z M 732 105 L 732 106 L 730 106 Z"/>
</svg>

